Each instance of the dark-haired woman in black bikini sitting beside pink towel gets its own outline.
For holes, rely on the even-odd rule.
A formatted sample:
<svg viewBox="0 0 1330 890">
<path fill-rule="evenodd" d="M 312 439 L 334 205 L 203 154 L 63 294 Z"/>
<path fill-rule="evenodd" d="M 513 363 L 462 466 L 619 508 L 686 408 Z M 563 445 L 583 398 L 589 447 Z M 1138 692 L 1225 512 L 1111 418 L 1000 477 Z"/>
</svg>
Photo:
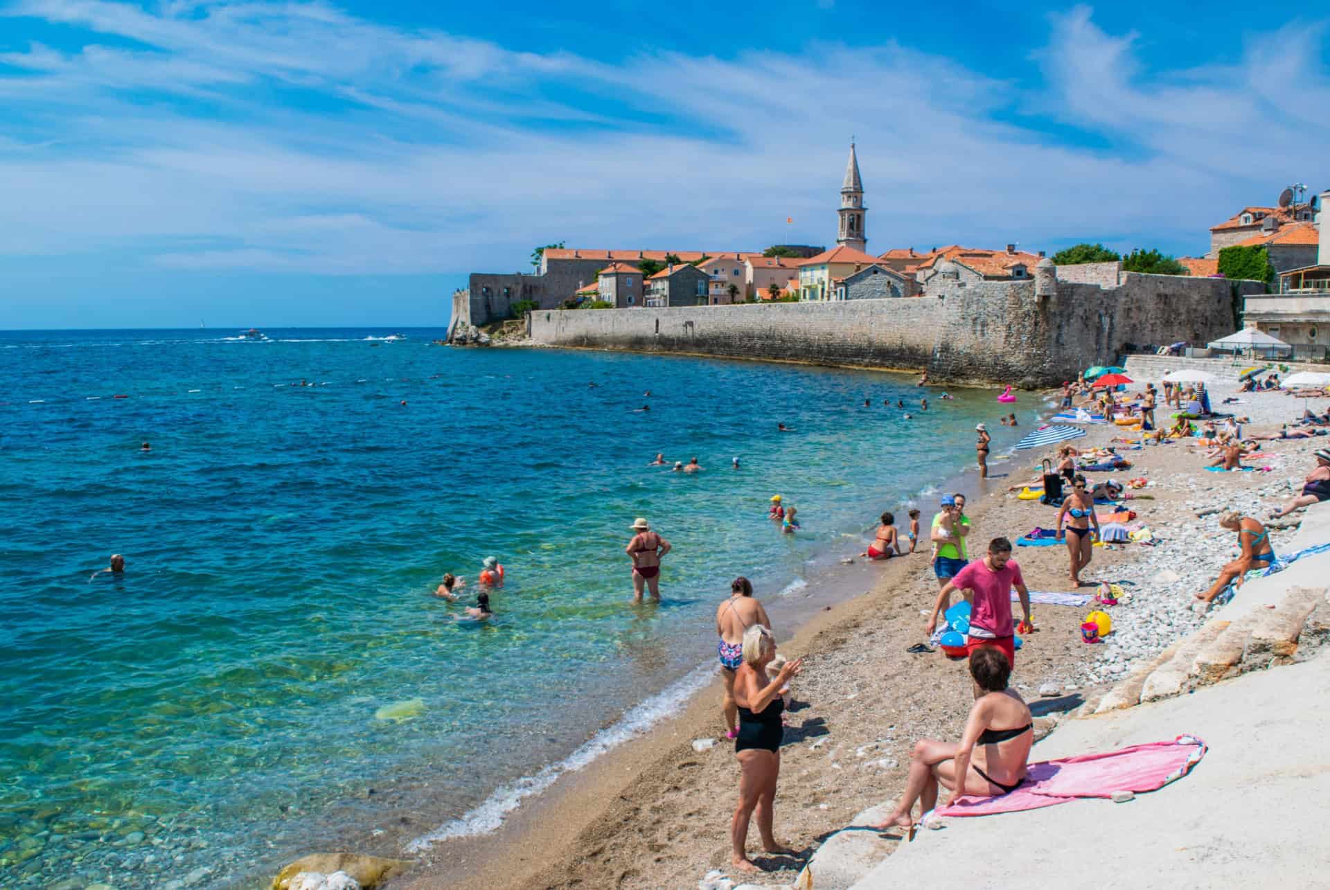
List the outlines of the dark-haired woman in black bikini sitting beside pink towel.
<svg viewBox="0 0 1330 890">
<path fill-rule="evenodd" d="M 910 756 L 906 793 L 880 830 L 903 829 L 914 839 L 910 812 L 919 801 L 920 816 L 938 805 L 938 785 L 951 792 L 947 806 L 967 794 L 996 797 L 1016 790 L 1025 781 L 1025 760 L 1035 744 L 1029 708 L 1015 689 L 1007 688 L 1011 664 L 1000 651 L 983 647 L 970 653 L 975 680 L 975 706 L 970 709 L 959 745 L 923 738 Z"/>
</svg>

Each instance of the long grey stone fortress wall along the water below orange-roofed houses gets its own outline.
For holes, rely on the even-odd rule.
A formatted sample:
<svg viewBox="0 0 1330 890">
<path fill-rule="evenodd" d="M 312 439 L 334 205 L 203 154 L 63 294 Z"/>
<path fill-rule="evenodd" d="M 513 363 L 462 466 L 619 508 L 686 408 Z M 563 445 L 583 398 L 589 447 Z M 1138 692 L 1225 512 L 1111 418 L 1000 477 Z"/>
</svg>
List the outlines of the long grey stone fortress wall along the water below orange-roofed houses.
<svg viewBox="0 0 1330 890">
<path fill-rule="evenodd" d="M 879 369 L 935 380 L 1056 386 L 1124 345 L 1208 342 L 1233 333 L 1233 287 L 1261 282 L 1125 273 L 1100 287 L 1057 281 L 934 282 L 918 298 L 677 309 L 540 310 L 536 343 Z"/>
</svg>

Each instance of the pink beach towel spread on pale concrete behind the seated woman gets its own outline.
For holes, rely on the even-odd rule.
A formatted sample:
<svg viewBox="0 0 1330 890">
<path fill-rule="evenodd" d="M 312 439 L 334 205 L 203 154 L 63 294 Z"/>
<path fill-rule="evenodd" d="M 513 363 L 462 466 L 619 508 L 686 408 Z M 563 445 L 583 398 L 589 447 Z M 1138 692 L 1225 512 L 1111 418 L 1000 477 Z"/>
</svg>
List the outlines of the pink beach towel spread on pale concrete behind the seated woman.
<svg viewBox="0 0 1330 890">
<path fill-rule="evenodd" d="M 1031 764 L 1027 780 L 1009 794 L 962 797 L 938 816 L 992 816 L 1055 806 L 1077 797 L 1112 797 L 1113 792 L 1153 792 L 1186 776 L 1202 757 L 1205 742 L 1178 736 L 1170 742 L 1132 745 L 1105 754 L 1080 754 Z"/>
</svg>

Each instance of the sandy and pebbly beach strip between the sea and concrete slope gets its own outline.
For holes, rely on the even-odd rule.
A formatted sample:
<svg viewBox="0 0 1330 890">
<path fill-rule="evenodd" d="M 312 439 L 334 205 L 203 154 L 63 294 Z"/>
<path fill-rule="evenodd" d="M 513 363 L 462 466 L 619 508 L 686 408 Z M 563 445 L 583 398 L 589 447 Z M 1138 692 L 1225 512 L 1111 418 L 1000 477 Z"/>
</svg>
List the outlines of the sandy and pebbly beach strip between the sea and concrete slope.
<svg viewBox="0 0 1330 890">
<path fill-rule="evenodd" d="M 1228 386 L 1212 387 L 1216 410 L 1249 418 L 1254 432 L 1277 431 L 1307 403 L 1262 392 L 1222 404 L 1230 394 Z M 1310 400 L 1317 410 L 1327 403 Z M 1079 447 L 1108 444 L 1120 435 L 1113 426 L 1088 430 Z M 1218 527 L 1218 511 L 1242 510 L 1264 519 L 1291 495 L 1290 486 L 1301 490 L 1313 466 L 1310 455 L 1319 446 L 1321 439 L 1266 443 L 1261 450 L 1266 456 L 1248 463 L 1270 470 L 1253 472 L 1204 471 L 1204 448 L 1188 442 L 1142 450 L 1119 446 L 1133 463 L 1129 471 L 1088 474 L 1093 482 L 1146 478 L 1149 486 L 1128 507 L 1160 543 L 1096 547 L 1084 576 L 1124 583 L 1128 591 L 1109 609 L 1115 633 L 1105 644 L 1087 645 L 1080 637 L 1083 615 L 1096 607 L 1033 607 L 1037 631 L 1025 635 L 1012 681 L 1032 702 L 1037 737 L 1053 732 L 1059 714 L 1081 696 L 1107 686 L 1201 624 L 1192 593 L 1208 587 L 1220 565 L 1236 555 L 1236 536 Z M 1015 540 L 1036 525 L 1055 525 L 1053 507 L 1017 500 L 1007 491 L 1029 479 L 1041 456 L 1019 452 L 995 460 L 988 480 L 976 474 L 964 478 L 960 491 L 970 496 L 972 556 L 994 536 Z M 920 507 L 927 533 L 935 506 Z M 1277 552 L 1286 549 L 1293 533 L 1271 529 Z M 1064 547 L 1017 547 L 1015 559 L 1031 589 L 1068 589 Z M 749 850 L 766 871 L 741 877 L 728 870 L 735 882 L 790 883 L 831 831 L 900 793 L 916 738 L 959 736 L 971 704 L 964 663 L 940 652 L 906 652 L 923 640 L 922 611 L 931 607 L 938 589 L 927 548 L 871 568 L 875 581 L 863 596 L 827 607 L 793 637 L 777 628 L 782 652 L 806 657 L 794 684 L 797 704 L 785 734 L 775 802 L 775 834 L 799 854 L 761 854 L 754 829 Z M 694 740 L 717 744 L 698 752 Z M 717 681 L 649 734 L 560 780 L 496 834 L 434 847 L 394 886 L 693 887 L 709 870 L 728 869 L 737 781 L 733 748 L 724 740 Z"/>
</svg>

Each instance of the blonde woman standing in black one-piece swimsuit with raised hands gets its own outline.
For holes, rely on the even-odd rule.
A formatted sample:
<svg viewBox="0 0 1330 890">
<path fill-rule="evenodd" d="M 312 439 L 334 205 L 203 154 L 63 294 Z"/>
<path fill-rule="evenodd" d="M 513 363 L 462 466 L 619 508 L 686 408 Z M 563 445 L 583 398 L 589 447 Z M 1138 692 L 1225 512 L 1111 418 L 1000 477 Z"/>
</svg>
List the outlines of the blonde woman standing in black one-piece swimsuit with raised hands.
<svg viewBox="0 0 1330 890">
<path fill-rule="evenodd" d="M 793 854 L 771 834 L 775 780 L 781 774 L 781 714 L 785 702 L 781 688 L 799 676 L 803 659 L 786 661 L 774 680 L 767 681 L 766 665 L 775 657 L 775 637 L 761 624 L 743 632 L 743 664 L 734 673 L 734 701 L 739 708 L 739 734 L 734 756 L 739 761 L 739 802 L 730 819 L 730 865 L 739 871 L 761 871 L 747 858 L 749 821 L 757 810 L 757 830 L 767 853 Z"/>
</svg>

